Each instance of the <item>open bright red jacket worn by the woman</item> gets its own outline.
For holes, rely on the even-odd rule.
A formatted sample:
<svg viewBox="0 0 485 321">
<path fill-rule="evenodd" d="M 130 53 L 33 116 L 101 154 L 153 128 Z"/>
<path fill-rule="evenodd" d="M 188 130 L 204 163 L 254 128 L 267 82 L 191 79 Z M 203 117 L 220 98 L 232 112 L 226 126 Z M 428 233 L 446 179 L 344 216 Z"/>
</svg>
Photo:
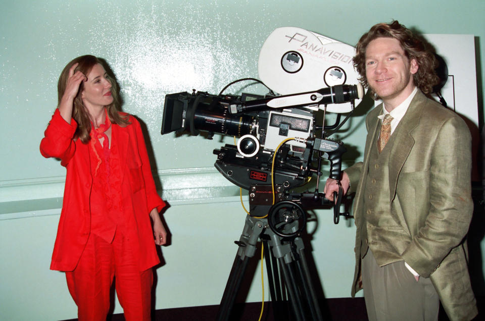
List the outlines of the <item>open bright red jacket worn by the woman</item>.
<svg viewBox="0 0 485 321">
<path fill-rule="evenodd" d="M 119 146 L 122 171 L 122 215 L 126 218 L 123 232 L 138 255 L 139 269 L 144 271 L 160 262 L 153 238 L 150 211 L 160 211 L 165 202 L 155 187 L 147 147 L 140 124 L 129 116 L 130 125 L 112 125 L 112 139 Z M 89 195 L 92 175 L 90 144 L 73 139 L 77 123 L 67 123 L 57 109 L 40 142 L 44 157 L 57 157 L 67 169 L 61 218 L 52 254 L 51 270 L 73 271 L 90 234 Z"/>
</svg>

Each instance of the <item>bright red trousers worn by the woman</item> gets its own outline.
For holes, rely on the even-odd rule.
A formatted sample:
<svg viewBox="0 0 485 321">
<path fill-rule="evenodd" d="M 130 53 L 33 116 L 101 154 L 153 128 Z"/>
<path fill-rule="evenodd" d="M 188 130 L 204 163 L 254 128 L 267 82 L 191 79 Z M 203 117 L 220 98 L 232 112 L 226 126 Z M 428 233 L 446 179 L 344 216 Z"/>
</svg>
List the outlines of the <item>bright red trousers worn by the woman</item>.
<svg viewBox="0 0 485 321">
<path fill-rule="evenodd" d="M 118 231 L 112 243 L 91 234 L 76 269 L 66 272 L 67 286 L 77 304 L 79 320 L 106 321 L 113 277 L 125 319 L 150 321 L 152 269 L 138 270 L 136 255 Z"/>
</svg>

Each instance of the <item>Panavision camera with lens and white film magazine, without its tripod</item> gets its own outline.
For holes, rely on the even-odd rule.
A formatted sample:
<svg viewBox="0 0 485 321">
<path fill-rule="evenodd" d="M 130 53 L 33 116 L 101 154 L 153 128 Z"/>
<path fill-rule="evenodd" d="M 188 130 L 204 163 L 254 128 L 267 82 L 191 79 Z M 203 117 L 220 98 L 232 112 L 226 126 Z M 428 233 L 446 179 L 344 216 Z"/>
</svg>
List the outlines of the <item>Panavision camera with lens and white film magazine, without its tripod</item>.
<svg viewBox="0 0 485 321">
<path fill-rule="evenodd" d="M 345 123 L 355 101 L 363 96 L 351 63 L 353 55 L 354 48 L 347 44 L 300 28 L 278 28 L 264 43 L 258 66 L 264 84 L 276 88 L 279 95 L 272 90 L 265 96 L 195 90 L 168 94 L 161 133 L 238 137 L 236 145 L 214 150 L 215 167 L 230 182 L 250 191 L 253 216 L 266 215 L 283 200 L 311 208 L 328 205 L 318 192 L 321 158 L 330 162 L 329 177 L 339 180 L 346 151 L 342 142 L 328 138 L 329 131 Z M 322 84 L 327 87 L 317 87 Z M 337 113 L 335 124 L 316 124 L 318 112 Z M 348 115 L 341 121 L 343 113 Z M 313 175 L 317 176 L 313 193 L 289 192 Z M 334 222 L 338 223 L 342 195 L 336 199 Z"/>
</svg>

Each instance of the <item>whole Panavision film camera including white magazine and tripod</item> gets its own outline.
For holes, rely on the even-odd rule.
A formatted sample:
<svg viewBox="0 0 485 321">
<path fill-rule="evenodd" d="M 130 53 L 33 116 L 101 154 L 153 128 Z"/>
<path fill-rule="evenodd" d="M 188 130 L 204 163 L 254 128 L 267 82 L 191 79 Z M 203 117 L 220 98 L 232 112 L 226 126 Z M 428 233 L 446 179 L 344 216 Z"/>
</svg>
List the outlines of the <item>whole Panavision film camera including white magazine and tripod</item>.
<svg viewBox="0 0 485 321">
<path fill-rule="evenodd" d="M 258 239 L 271 250 L 266 269 L 270 280 L 276 280 L 270 284 L 273 302 L 284 301 L 282 293 L 287 293 L 297 319 L 322 319 L 300 235 L 306 226 L 304 208 L 333 205 L 335 224 L 341 215 L 348 215 L 340 213 L 342 187 L 332 204 L 319 192 L 318 184 L 322 159 L 330 163 L 329 177 L 341 178 L 346 148 L 329 136 L 349 119 L 364 94 L 352 64 L 354 54 L 352 46 L 328 37 L 300 28 L 277 28 L 260 51 L 262 81 L 243 79 L 263 83 L 270 88 L 268 94 L 223 94 L 226 86 L 218 95 L 193 90 L 165 96 L 162 134 L 205 132 L 208 138 L 216 133 L 238 137 L 236 144 L 214 149 L 215 167 L 249 191 L 250 203 L 243 234 L 235 242 L 239 247 L 218 320 L 230 319 Z M 334 124 L 325 124 L 326 112 L 337 113 Z M 318 124 L 321 113 L 323 121 Z M 347 114 L 344 120 L 342 114 Z M 295 191 L 314 175 L 313 192 Z M 283 283 L 278 282 L 278 273 Z"/>
</svg>

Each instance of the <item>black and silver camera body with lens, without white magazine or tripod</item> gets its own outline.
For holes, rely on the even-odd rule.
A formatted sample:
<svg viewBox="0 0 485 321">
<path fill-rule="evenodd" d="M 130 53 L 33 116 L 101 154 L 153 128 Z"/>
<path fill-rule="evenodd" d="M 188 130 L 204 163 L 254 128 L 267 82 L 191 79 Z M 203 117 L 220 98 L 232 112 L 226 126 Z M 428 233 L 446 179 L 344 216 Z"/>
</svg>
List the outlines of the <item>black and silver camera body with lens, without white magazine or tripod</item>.
<svg viewBox="0 0 485 321">
<path fill-rule="evenodd" d="M 358 97 L 356 87 L 342 90 L 349 96 L 347 99 Z M 209 137 L 215 133 L 239 137 L 236 145 L 214 149 L 214 166 L 230 182 L 250 191 L 252 214 L 264 212 L 274 202 L 294 200 L 289 190 L 306 184 L 312 175 L 320 176 L 321 158 L 330 161 L 330 177 L 340 179 L 345 152 L 341 142 L 325 138 L 325 126 L 315 126 L 312 105 L 269 106 L 280 97 L 251 95 L 248 99 L 247 95 L 196 91 L 169 94 L 165 97 L 162 134 L 207 132 Z M 312 207 L 326 203 L 322 195 L 311 198 L 316 201 Z"/>
</svg>

